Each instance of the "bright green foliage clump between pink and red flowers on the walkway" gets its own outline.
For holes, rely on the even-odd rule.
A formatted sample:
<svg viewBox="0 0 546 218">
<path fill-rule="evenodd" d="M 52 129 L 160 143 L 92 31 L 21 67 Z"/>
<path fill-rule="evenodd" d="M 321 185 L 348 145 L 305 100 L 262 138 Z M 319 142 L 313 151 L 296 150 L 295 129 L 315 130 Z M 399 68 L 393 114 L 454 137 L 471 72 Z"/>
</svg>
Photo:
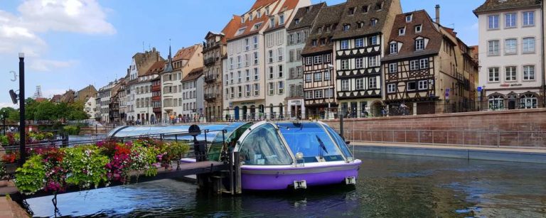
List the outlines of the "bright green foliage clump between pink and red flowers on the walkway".
<svg viewBox="0 0 546 218">
<path fill-rule="evenodd" d="M 105 165 L 109 158 L 102 155 L 101 150 L 97 146 L 63 148 L 63 168 L 69 172 L 66 182 L 82 188 L 97 187 L 101 182 L 107 182 Z"/>
</svg>

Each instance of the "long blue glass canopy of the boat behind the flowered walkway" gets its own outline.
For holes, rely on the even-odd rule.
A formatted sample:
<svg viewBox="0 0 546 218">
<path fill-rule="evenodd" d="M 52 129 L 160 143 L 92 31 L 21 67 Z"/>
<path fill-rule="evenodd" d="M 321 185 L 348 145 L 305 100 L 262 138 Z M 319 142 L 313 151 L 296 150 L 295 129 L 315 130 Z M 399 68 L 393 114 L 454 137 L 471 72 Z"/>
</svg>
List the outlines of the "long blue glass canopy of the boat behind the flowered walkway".
<svg viewBox="0 0 546 218">
<path fill-rule="evenodd" d="M 222 130 L 225 129 L 228 125 L 201 125 L 199 126 L 201 131 L 208 130 L 208 133 L 201 133 L 197 136 L 197 140 L 213 141 L 215 136 L 218 133 L 222 133 Z M 178 139 L 178 140 L 193 140 L 193 136 L 175 136 L 176 133 L 187 133 L 189 125 L 183 126 L 120 126 L 116 129 L 113 129 L 108 133 L 108 138 L 124 138 L 124 137 L 138 137 L 138 136 L 149 136 L 149 135 L 160 135 L 164 134 L 164 139 Z M 206 135 L 206 137 L 205 137 Z"/>
</svg>

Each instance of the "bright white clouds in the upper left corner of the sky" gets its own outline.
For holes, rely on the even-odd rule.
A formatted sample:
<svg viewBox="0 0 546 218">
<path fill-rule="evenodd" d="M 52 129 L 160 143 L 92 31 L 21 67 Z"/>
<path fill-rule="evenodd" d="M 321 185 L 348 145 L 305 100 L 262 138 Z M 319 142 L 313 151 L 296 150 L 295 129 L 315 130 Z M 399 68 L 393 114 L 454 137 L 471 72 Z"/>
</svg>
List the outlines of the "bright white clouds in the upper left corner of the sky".
<svg viewBox="0 0 546 218">
<path fill-rule="evenodd" d="M 65 31 L 84 34 L 115 34 L 106 20 L 105 9 L 96 0 L 25 0 L 18 6 L 20 14 L 0 10 L 0 54 L 40 57 L 48 45 L 41 33 Z M 48 67 L 49 66 L 49 67 Z M 63 67 L 61 62 L 37 63 L 41 70 Z"/>
</svg>

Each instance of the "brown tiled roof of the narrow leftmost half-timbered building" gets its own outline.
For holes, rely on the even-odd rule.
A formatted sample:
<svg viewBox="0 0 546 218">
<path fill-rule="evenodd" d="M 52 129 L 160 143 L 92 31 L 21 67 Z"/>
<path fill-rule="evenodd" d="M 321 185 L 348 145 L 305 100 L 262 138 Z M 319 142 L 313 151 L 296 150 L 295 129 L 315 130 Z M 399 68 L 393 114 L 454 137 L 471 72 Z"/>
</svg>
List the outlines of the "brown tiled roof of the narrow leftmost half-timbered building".
<svg viewBox="0 0 546 218">
<path fill-rule="evenodd" d="M 319 12 L 319 15 L 316 17 L 315 24 L 313 26 L 313 29 L 309 33 L 309 37 L 307 38 L 305 48 L 301 52 L 302 55 L 311 54 L 311 53 L 320 53 L 327 50 L 332 50 L 333 48 L 333 41 L 329 40 L 334 33 L 334 27 L 339 26 L 339 19 L 341 18 L 341 13 L 345 9 L 345 3 L 343 4 L 336 4 L 333 6 L 324 6 L 321 11 Z M 326 32 L 322 31 L 322 33 L 319 34 L 318 29 L 323 28 L 324 26 L 331 26 L 331 31 Z M 321 38 L 326 39 L 326 45 L 320 45 Z M 319 43 L 317 43 L 316 46 L 313 46 L 311 43 L 313 40 L 318 40 Z"/>
</svg>

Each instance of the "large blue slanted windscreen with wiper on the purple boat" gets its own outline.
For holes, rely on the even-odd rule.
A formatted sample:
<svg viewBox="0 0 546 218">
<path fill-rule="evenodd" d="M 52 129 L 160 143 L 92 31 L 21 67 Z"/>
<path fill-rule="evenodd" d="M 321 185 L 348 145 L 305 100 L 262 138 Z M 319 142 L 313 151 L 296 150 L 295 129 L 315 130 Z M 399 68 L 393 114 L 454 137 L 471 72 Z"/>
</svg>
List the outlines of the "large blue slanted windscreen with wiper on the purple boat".
<svg viewBox="0 0 546 218">
<path fill-rule="evenodd" d="M 286 139 L 292 153 L 303 153 L 303 161 L 314 163 L 321 161 L 343 160 L 341 151 L 337 148 L 328 133 L 315 123 L 279 124 L 282 136 Z"/>
</svg>

